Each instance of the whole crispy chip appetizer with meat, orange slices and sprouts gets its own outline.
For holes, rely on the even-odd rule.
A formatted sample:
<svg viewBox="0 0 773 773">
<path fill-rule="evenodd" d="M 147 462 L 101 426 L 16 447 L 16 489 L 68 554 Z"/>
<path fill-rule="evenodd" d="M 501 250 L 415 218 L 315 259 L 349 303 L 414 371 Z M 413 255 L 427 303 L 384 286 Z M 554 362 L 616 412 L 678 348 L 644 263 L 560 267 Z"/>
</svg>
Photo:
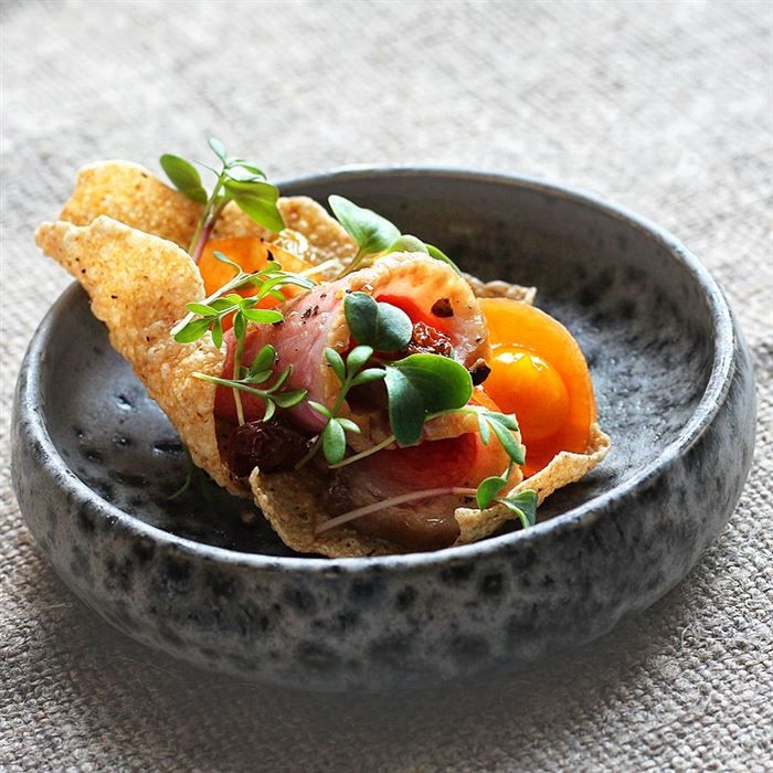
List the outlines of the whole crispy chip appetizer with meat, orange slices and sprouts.
<svg viewBox="0 0 773 773">
<path fill-rule="evenodd" d="M 304 553 L 528 528 L 604 457 L 580 347 L 533 288 L 483 283 L 340 197 L 279 198 L 211 140 L 211 193 L 86 167 L 38 244 L 85 287 L 194 464 Z"/>
</svg>

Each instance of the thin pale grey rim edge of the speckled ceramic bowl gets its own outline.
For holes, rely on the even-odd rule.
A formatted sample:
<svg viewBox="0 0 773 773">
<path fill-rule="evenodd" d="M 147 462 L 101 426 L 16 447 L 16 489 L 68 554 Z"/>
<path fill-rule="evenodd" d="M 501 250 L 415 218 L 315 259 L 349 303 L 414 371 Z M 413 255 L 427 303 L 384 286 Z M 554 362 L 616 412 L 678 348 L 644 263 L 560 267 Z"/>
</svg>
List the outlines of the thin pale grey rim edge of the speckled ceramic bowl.
<svg viewBox="0 0 773 773">
<path fill-rule="evenodd" d="M 377 568 L 384 571 L 411 570 L 431 564 L 443 564 L 459 562 L 463 560 L 484 557 L 489 553 L 499 552 L 502 548 L 521 542 L 538 542 L 543 534 L 565 529 L 583 528 L 592 525 L 601 518 L 608 506 L 615 500 L 622 499 L 639 487 L 656 479 L 673 462 L 687 452 L 706 432 L 711 424 L 717 412 L 727 396 L 732 374 L 734 370 L 733 351 L 735 333 L 729 306 L 719 286 L 709 272 L 682 244 L 669 232 L 656 225 L 652 221 L 631 210 L 613 204 L 605 199 L 593 193 L 578 190 L 575 188 L 540 180 L 531 177 L 517 174 L 506 174 L 476 169 L 455 169 L 448 167 L 423 167 L 423 166 L 348 166 L 333 169 L 328 172 L 311 173 L 290 180 L 279 182 L 282 190 L 293 189 L 303 191 L 305 186 L 310 184 L 335 184 L 336 181 L 371 180 L 374 177 L 389 176 L 391 178 L 411 177 L 435 177 L 446 180 L 462 180 L 468 182 L 490 182 L 497 186 L 512 186 L 519 189 L 530 190 L 537 193 L 561 198 L 573 201 L 580 207 L 593 210 L 601 210 L 607 215 L 612 215 L 627 226 L 638 230 L 646 239 L 665 247 L 673 258 L 684 264 L 705 293 L 711 313 L 714 333 L 714 357 L 711 367 L 711 374 L 703 396 L 696 407 L 689 421 L 682 427 L 678 437 L 669 443 L 660 454 L 639 470 L 632 478 L 624 480 L 614 488 L 601 494 L 582 505 L 579 505 L 564 513 L 555 516 L 550 520 L 537 523 L 530 529 L 512 531 L 498 537 L 490 537 L 481 542 L 456 548 L 445 548 L 432 552 L 407 553 L 400 555 L 384 555 L 372 558 L 303 558 L 303 557 L 273 557 L 262 553 L 246 553 L 242 551 L 229 550 L 215 546 L 197 542 L 183 537 L 178 537 L 157 527 L 150 526 L 128 512 L 116 507 L 112 502 L 103 499 L 96 491 L 83 483 L 75 473 L 66 465 L 51 440 L 42 411 L 32 411 L 30 416 L 30 432 L 33 442 L 40 443 L 41 463 L 46 465 L 60 479 L 63 488 L 73 499 L 78 502 L 97 498 L 102 502 L 104 512 L 114 520 L 115 525 L 120 523 L 129 531 L 136 532 L 137 537 L 147 537 L 156 542 L 173 546 L 183 553 L 199 555 L 212 561 L 252 566 L 262 571 L 277 572 L 370 572 Z M 22 396 L 22 405 L 40 405 L 40 363 L 45 356 L 46 342 L 51 336 L 55 319 L 78 295 L 80 286 L 75 283 L 71 285 L 52 305 L 40 327 L 35 331 L 27 354 L 28 381 L 25 393 Z M 614 443 L 614 438 L 613 438 Z M 614 453 L 614 449 L 613 449 Z"/>
</svg>

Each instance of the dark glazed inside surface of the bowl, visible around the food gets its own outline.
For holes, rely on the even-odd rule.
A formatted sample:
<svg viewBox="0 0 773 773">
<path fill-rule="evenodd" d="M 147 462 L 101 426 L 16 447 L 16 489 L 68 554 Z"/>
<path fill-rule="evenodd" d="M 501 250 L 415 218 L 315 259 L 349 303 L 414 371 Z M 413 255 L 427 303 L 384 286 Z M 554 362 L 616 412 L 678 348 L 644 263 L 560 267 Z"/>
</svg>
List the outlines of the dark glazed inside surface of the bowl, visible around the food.
<svg viewBox="0 0 773 773">
<path fill-rule="evenodd" d="M 547 519 L 624 483 L 676 441 L 708 384 L 713 326 L 699 279 L 657 233 L 546 186 L 454 172 L 321 176 L 283 186 L 339 193 L 442 246 L 466 271 L 538 288 L 537 305 L 575 336 L 590 363 L 605 462 L 553 495 Z M 222 548 L 295 554 L 245 500 L 184 483 L 180 441 L 109 346 L 81 289 L 55 306 L 41 366 L 49 434 L 72 470 L 137 519 Z"/>
</svg>

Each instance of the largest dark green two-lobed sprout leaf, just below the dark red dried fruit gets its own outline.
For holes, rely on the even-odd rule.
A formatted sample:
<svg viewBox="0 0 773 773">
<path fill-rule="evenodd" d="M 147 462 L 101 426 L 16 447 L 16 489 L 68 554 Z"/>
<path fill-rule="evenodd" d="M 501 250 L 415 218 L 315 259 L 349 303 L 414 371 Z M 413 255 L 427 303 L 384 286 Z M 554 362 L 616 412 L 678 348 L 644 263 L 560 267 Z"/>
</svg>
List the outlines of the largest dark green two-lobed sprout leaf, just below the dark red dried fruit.
<svg viewBox="0 0 773 773">
<path fill-rule="evenodd" d="M 411 354 L 391 362 L 384 378 L 390 425 L 402 445 L 419 442 L 428 413 L 459 409 L 473 394 L 464 366 L 440 354 Z"/>
</svg>

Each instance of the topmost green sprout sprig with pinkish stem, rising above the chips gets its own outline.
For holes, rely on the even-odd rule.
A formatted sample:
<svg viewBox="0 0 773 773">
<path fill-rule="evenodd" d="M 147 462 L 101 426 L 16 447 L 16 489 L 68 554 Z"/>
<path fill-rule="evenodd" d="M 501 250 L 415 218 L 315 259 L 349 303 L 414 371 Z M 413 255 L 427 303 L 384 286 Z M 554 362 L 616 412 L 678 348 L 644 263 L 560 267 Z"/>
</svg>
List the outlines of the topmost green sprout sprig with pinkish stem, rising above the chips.
<svg viewBox="0 0 773 773">
<path fill-rule="evenodd" d="M 207 163 L 200 165 L 218 178 L 209 195 L 193 163 L 171 153 L 165 153 L 159 159 L 161 168 L 173 186 L 183 195 L 204 204 L 204 211 L 188 247 L 194 263 L 199 262 L 218 218 L 230 201 L 235 202 L 242 212 L 269 231 L 278 233 L 285 227 L 276 207 L 279 191 L 267 181 L 263 170 L 243 158 L 229 158 L 225 147 L 215 137 L 210 137 L 208 142 L 222 165 L 220 170 Z"/>
</svg>

